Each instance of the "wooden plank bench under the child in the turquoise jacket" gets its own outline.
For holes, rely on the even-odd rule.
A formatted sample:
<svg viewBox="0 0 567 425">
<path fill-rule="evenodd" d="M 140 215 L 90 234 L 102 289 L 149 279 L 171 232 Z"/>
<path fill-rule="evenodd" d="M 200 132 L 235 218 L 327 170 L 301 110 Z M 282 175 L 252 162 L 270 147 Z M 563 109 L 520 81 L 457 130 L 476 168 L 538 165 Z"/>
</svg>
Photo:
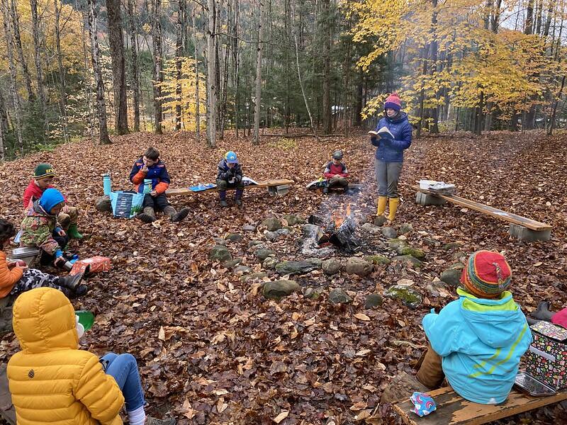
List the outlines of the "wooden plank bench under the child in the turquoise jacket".
<svg viewBox="0 0 567 425">
<path fill-rule="evenodd" d="M 420 418 L 412 412 L 409 399 L 393 404 L 393 409 L 407 425 L 479 425 L 527 412 L 538 407 L 567 399 L 567 392 L 546 397 L 532 397 L 512 390 L 503 404 L 478 404 L 462 398 L 451 387 L 428 393 L 437 404 L 437 410 Z"/>
</svg>

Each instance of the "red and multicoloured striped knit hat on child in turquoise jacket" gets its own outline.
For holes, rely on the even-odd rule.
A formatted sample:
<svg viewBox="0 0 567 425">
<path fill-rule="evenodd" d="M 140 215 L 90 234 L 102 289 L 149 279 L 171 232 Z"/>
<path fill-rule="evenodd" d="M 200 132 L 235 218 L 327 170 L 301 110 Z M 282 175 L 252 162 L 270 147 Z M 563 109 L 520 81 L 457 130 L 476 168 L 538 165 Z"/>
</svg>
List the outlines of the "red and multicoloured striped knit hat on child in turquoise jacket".
<svg viewBox="0 0 567 425">
<path fill-rule="evenodd" d="M 493 251 L 476 251 L 466 263 L 461 283 L 480 298 L 498 297 L 510 285 L 512 269 L 504 256 Z"/>
</svg>

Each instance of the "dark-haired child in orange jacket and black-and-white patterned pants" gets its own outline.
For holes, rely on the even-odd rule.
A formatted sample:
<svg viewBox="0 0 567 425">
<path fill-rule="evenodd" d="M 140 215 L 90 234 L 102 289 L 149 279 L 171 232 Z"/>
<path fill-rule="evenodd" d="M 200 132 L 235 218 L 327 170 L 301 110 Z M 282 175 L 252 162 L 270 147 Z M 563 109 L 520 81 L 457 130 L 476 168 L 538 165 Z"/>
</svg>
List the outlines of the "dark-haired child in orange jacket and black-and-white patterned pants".
<svg viewBox="0 0 567 425">
<path fill-rule="evenodd" d="M 0 219 L 0 298 L 42 286 L 60 290 L 67 297 L 86 294 L 87 287 L 81 283 L 82 273 L 74 276 L 52 276 L 35 268 L 28 268 L 23 261 L 7 261 L 4 249 L 14 234 L 16 232 L 13 224 Z"/>
</svg>

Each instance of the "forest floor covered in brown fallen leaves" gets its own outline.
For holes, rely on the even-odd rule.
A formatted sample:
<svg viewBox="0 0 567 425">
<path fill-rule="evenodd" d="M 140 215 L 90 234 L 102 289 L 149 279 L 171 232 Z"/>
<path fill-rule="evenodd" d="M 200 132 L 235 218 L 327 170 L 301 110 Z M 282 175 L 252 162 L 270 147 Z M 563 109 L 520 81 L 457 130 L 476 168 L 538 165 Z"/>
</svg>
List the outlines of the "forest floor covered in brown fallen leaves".
<svg viewBox="0 0 567 425">
<path fill-rule="evenodd" d="M 162 152 L 171 187 L 214 181 L 217 163 L 229 149 L 237 152 L 252 179 L 297 183 L 285 196 L 247 190 L 242 210 L 221 209 L 215 193 L 172 196 L 176 208 L 191 209 L 180 224 L 159 220 L 142 225 L 97 212 L 101 174 L 111 171 L 115 190 L 130 188 L 130 167 L 149 145 Z M 307 191 L 305 184 L 320 176 L 321 166 L 338 148 L 344 150 L 352 180 L 364 183 L 362 193 L 347 197 Z M 79 227 L 86 238 L 72 242 L 72 249 L 82 258 L 104 255 L 113 262 L 110 272 L 89 279 L 89 294 L 73 302 L 77 310 L 96 312 L 82 347 L 100 355 L 133 353 L 151 414 L 174 415 L 179 424 L 377 424 L 383 412 L 376 406 L 388 380 L 400 370 L 411 370 L 427 344 L 422 317 L 456 299 L 454 288 L 439 282 L 440 274 L 465 254 L 476 249 L 503 252 L 513 271 L 510 289 L 524 312 L 543 299 L 552 300 L 556 310 L 567 305 L 567 144 L 564 137 L 537 132 L 415 140 L 406 154 L 403 202 L 394 227 L 412 225 L 403 237 L 425 251 L 422 267 L 376 265 L 364 278 L 344 268 L 332 276 L 316 269 L 290 277 L 301 285 L 298 293 L 279 301 L 266 299 L 260 285 L 282 276 L 264 267 L 257 246 L 249 248 L 249 242 L 262 242 L 279 261 L 315 255 L 303 254 L 301 225 L 269 242 L 262 221 L 286 214 L 328 215 L 346 203 L 352 203 L 359 222 L 372 220 L 373 151 L 366 135 L 320 143 L 308 137 L 263 137 L 257 147 L 227 135 L 217 149 L 198 145 L 184 132 L 113 137 L 109 146 L 77 142 L 0 164 L 0 215 L 20 222 L 21 196 L 35 164 L 55 166 L 56 186 L 69 203 L 82 208 Z M 416 205 L 408 185 L 419 179 L 455 183 L 464 198 L 547 222 L 554 226 L 552 239 L 518 242 L 510 239 L 503 221 L 454 205 Z M 256 229 L 247 231 L 249 226 Z M 374 228 L 366 229 L 371 233 Z M 364 234 L 361 226 L 357 232 L 366 238 L 364 254 L 397 255 L 381 233 Z M 213 238 L 232 233 L 242 239 L 227 240 L 226 246 L 249 271 L 208 258 Z M 447 246 L 452 242 L 456 244 Z M 330 256 L 345 263 L 352 254 L 329 249 L 323 259 Z M 246 278 L 261 272 L 266 274 Z M 381 294 L 395 283 L 420 293 L 422 304 L 410 309 L 384 297 L 381 306 L 365 307 L 367 295 Z M 331 305 L 330 288 L 342 288 L 352 302 Z M 4 335 L 0 360 L 7 361 L 17 350 L 13 334 Z M 556 414 L 564 413 L 545 407 L 498 424 L 554 424 Z"/>
</svg>

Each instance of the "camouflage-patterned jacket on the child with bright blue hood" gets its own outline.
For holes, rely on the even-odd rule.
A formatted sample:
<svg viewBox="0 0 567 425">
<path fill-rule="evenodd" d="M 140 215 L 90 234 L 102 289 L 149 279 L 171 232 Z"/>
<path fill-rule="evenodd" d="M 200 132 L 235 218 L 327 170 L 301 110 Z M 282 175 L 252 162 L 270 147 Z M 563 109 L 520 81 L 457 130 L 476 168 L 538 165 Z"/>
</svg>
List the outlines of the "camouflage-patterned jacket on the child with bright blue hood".
<svg viewBox="0 0 567 425">
<path fill-rule="evenodd" d="M 26 212 L 26 217 L 22 221 L 22 234 L 20 244 L 22 246 L 37 246 L 47 254 L 55 254 L 59 249 L 59 244 L 53 239 L 53 230 L 60 227 L 57 217 L 47 214 L 40 207 L 39 200 L 33 203 L 33 207 Z"/>
</svg>

